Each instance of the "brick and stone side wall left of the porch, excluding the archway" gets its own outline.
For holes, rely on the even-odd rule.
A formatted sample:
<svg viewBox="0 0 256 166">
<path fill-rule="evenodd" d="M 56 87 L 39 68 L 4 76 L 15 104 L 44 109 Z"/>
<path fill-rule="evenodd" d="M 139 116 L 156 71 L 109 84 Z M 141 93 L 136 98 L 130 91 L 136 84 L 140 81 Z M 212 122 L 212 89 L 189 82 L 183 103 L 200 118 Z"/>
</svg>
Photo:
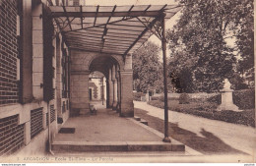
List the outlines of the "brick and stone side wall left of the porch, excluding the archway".
<svg viewBox="0 0 256 166">
<path fill-rule="evenodd" d="M 49 147 L 69 117 L 69 59 L 41 1 L 0 0 L 0 155 Z"/>
</svg>

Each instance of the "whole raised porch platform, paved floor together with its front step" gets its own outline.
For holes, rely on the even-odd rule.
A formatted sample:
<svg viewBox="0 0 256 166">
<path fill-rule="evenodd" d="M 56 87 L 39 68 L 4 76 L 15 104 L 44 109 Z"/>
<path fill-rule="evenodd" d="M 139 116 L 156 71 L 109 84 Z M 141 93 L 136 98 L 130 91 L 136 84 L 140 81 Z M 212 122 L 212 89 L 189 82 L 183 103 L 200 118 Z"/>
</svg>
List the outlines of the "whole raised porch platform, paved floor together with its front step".
<svg viewBox="0 0 256 166">
<path fill-rule="evenodd" d="M 52 142 L 54 153 L 92 151 L 179 151 L 176 140 L 163 142 L 156 131 L 133 118 L 121 118 L 116 111 L 97 102 L 96 115 L 71 117 Z M 68 131 L 70 130 L 70 131 Z M 73 130 L 73 131 L 72 131 Z"/>
</svg>

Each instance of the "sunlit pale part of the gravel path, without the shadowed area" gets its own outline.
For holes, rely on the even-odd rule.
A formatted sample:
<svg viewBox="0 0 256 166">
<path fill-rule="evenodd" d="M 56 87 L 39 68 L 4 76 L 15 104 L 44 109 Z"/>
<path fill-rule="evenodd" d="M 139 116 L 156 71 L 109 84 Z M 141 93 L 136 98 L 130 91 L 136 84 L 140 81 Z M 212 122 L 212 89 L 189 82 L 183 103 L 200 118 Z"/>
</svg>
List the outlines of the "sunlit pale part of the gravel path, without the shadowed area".
<svg viewBox="0 0 256 166">
<path fill-rule="evenodd" d="M 140 101 L 134 101 L 134 105 L 135 108 L 146 110 L 148 115 L 163 120 L 163 109 Z M 203 134 L 208 133 L 211 134 L 212 137 L 218 138 L 220 141 L 222 140 L 222 142 L 234 149 L 254 156 L 256 154 L 256 132 L 254 128 L 210 120 L 174 111 L 169 111 L 168 115 L 169 122 L 176 124 L 181 129 L 196 134 L 198 138 L 205 138 L 206 136 Z"/>
</svg>

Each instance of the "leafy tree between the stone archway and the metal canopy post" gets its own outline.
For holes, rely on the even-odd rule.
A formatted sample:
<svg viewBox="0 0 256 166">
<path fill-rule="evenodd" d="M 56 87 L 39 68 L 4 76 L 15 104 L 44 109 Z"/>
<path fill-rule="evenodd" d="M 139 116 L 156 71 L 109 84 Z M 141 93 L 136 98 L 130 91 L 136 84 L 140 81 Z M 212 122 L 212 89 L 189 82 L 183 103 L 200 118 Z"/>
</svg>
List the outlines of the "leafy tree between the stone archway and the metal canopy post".
<svg viewBox="0 0 256 166">
<path fill-rule="evenodd" d="M 162 64 L 160 47 L 146 42 L 133 53 L 133 80 L 138 91 L 162 90 Z"/>
</svg>

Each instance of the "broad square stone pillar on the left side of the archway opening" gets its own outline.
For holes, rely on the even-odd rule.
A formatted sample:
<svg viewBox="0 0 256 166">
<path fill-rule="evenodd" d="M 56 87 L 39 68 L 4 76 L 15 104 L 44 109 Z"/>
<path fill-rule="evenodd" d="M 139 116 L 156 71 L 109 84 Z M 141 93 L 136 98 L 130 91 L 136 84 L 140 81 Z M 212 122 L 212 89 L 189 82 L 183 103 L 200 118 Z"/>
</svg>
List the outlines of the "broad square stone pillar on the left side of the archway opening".
<svg viewBox="0 0 256 166">
<path fill-rule="evenodd" d="M 71 114 L 89 114 L 89 71 L 71 71 Z"/>
</svg>

